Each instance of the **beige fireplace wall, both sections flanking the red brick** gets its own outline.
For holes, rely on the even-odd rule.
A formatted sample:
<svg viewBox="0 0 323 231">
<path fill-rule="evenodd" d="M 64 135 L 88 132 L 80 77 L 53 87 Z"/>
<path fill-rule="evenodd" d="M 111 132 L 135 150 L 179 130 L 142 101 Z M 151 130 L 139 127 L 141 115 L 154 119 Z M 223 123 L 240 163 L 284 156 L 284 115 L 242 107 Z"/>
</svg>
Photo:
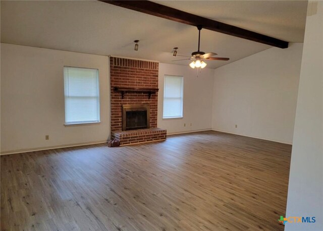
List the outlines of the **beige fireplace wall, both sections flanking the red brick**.
<svg viewBox="0 0 323 231">
<path fill-rule="evenodd" d="M 108 138 L 110 81 L 106 56 L 1 45 L 3 154 L 104 142 Z M 100 124 L 64 126 L 63 66 L 99 69 Z M 159 64 L 158 127 L 169 134 L 211 129 L 213 72 L 203 69 L 197 77 L 196 70 L 188 66 Z M 162 119 L 165 74 L 184 76 L 183 119 Z"/>
</svg>

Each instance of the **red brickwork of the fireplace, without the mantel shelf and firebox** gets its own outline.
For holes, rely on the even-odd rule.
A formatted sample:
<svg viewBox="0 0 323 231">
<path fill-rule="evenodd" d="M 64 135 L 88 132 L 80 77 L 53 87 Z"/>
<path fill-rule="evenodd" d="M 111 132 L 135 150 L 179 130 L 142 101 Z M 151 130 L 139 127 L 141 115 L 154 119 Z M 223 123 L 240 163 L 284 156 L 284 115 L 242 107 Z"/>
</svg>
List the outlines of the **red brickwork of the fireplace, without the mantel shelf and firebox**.
<svg viewBox="0 0 323 231">
<path fill-rule="evenodd" d="M 152 93 L 149 99 L 148 93 L 126 92 L 122 98 L 121 92 L 114 91 L 114 87 L 158 89 L 158 63 L 111 57 L 110 67 L 111 137 L 120 140 L 121 145 L 165 140 L 166 130 L 157 128 L 157 92 Z M 150 129 L 122 131 L 122 105 L 125 104 L 148 104 L 150 106 Z"/>
</svg>

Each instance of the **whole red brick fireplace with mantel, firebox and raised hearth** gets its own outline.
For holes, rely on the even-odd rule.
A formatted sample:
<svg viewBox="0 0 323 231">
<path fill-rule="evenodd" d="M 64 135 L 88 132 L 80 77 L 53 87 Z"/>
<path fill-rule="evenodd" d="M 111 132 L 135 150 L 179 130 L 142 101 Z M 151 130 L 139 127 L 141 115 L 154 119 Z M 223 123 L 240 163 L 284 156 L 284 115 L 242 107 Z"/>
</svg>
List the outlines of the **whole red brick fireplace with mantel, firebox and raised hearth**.
<svg viewBox="0 0 323 231">
<path fill-rule="evenodd" d="M 112 139 L 121 145 L 165 140 L 166 130 L 157 128 L 158 63 L 110 57 L 110 67 Z"/>
</svg>

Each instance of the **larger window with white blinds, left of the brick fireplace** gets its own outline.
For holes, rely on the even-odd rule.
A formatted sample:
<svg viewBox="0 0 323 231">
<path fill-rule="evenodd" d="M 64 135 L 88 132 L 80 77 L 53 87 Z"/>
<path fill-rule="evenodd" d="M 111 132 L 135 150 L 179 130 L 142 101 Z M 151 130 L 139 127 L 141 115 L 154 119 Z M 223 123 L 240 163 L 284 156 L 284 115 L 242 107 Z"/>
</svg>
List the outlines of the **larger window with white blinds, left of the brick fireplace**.
<svg viewBox="0 0 323 231">
<path fill-rule="evenodd" d="M 97 69 L 64 67 L 65 124 L 100 122 Z"/>
</svg>

